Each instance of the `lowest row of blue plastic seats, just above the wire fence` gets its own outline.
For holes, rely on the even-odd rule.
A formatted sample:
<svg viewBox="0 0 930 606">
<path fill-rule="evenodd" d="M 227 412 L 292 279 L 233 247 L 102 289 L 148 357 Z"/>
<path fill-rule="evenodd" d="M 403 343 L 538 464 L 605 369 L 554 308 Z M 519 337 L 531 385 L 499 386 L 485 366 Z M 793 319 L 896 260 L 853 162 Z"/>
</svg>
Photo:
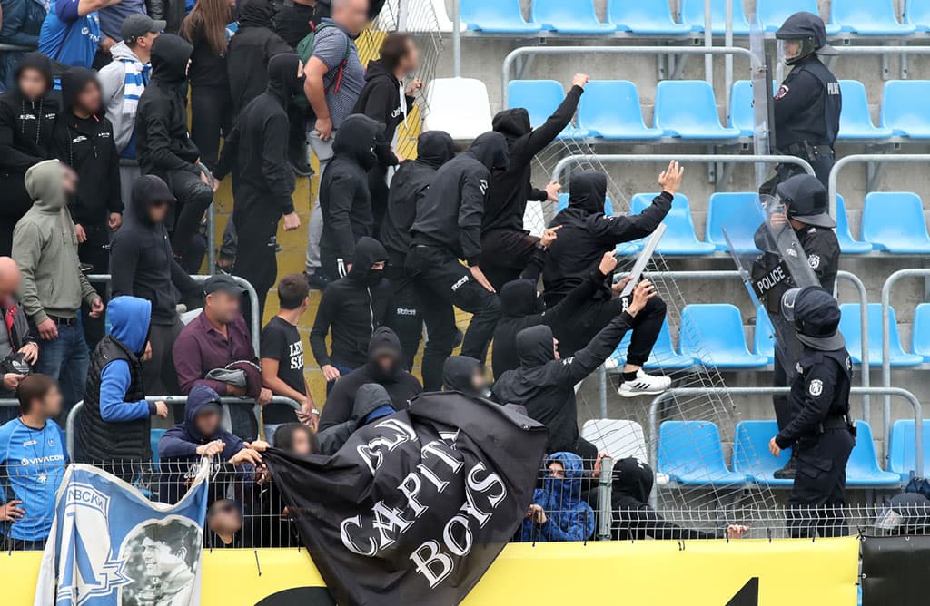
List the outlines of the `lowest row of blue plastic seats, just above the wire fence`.
<svg viewBox="0 0 930 606">
<path fill-rule="evenodd" d="M 899 467 L 879 467 L 868 423 L 856 421 L 857 439 L 846 464 L 846 486 L 893 489 L 906 481 L 914 466 L 913 426 L 910 442 L 907 421 L 898 421 L 900 439 L 891 441 L 889 455 Z M 777 480 L 774 473 L 790 458 L 790 449 L 776 458 L 768 452 L 768 441 L 778 432 L 775 421 L 741 421 L 733 444 L 733 467 L 726 465 L 720 430 L 710 421 L 665 421 L 658 428 L 657 472 L 685 486 L 738 488 L 751 482 L 790 488 L 790 480 Z M 910 448 L 910 450 L 909 450 Z"/>
</svg>

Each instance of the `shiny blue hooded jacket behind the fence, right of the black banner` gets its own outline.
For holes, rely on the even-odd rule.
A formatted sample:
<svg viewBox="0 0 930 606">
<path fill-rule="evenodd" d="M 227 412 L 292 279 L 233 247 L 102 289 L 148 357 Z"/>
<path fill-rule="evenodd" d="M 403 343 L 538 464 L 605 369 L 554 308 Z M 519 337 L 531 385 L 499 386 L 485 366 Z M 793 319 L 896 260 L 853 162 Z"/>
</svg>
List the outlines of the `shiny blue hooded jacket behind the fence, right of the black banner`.
<svg viewBox="0 0 930 606">
<path fill-rule="evenodd" d="M 581 457 L 573 453 L 556 453 L 547 461 L 561 463 L 565 480 L 547 475 L 542 488 L 533 492 L 533 504 L 546 512 L 546 523 L 524 520 L 523 541 L 585 541 L 594 534 L 594 510 L 581 500 Z"/>
</svg>

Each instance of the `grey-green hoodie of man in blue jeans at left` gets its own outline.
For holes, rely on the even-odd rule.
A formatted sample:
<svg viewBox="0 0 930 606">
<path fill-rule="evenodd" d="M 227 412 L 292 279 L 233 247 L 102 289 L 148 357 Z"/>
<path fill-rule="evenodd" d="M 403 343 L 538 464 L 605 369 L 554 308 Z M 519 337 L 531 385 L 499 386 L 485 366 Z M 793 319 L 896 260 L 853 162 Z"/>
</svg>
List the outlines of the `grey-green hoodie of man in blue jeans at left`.
<svg viewBox="0 0 930 606">
<path fill-rule="evenodd" d="M 22 309 L 36 324 L 49 315 L 73 318 L 82 298 L 90 304 L 100 296 L 81 272 L 59 161 L 33 165 L 25 183 L 33 207 L 13 231 L 13 259 L 22 272 Z"/>
</svg>

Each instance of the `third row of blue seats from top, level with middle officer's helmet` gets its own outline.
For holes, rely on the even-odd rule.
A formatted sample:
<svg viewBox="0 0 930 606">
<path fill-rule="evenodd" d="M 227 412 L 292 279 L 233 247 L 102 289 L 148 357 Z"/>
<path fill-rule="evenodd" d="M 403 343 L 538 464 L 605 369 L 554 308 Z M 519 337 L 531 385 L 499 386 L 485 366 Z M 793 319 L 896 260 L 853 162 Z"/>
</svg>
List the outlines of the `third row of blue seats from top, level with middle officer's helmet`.
<svg viewBox="0 0 930 606">
<path fill-rule="evenodd" d="M 656 194 L 637 193 L 631 198 L 632 215 L 643 212 Z M 557 210 L 568 204 L 569 194 L 559 195 Z M 669 257 L 699 257 L 725 252 L 729 246 L 724 238 L 724 226 L 729 226 L 733 244 L 739 253 L 758 252 L 751 240 L 759 225 L 759 218 L 745 213 L 758 194 L 751 191 L 718 191 L 708 199 L 707 226 L 704 241 L 697 239 L 691 203 L 683 193 L 675 194 L 671 211 L 665 217 L 666 231 L 658 244 L 658 253 Z M 608 198 L 604 213 L 613 212 Z M 740 229 L 736 229 L 739 226 Z M 732 232 L 745 235 L 740 239 Z M 890 255 L 930 254 L 930 233 L 923 216 L 923 202 L 910 191 L 873 191 L 866 195 L 862 210 L 862 240 L 858 240 L 849 227 L 843 196 L 836 200 L 836 237 L 844 255 L 864 255 L 872 251 Z M 620 244 L 618 252 L 639 252 L 641 243 Z"/>
</svg>

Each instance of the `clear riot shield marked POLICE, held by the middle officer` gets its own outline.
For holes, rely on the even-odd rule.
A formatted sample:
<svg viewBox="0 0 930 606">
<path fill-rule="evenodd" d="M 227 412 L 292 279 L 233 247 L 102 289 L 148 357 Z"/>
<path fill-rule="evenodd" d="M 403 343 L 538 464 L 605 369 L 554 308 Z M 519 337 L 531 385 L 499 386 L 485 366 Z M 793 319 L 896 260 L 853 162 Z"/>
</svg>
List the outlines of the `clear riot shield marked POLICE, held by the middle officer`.
<svg viewBox="0 0 930 606">
<path fill-rule="evenodd" d="M 759 316 L 765 313 L 774 333 L 777 362 L 781 362 L 790 381 L 802 346 L 794 324 L 781 315 L 781 296 L 790 288 L 818 286 L 817 275 L 807 264 L 807 255 L 791 229 L 784 204 L 777 198 L 752 196 L 733 204 L 721 225 L 730 254 L 758 310 L 756 330 L 764 328 Z"/>
</svg>

